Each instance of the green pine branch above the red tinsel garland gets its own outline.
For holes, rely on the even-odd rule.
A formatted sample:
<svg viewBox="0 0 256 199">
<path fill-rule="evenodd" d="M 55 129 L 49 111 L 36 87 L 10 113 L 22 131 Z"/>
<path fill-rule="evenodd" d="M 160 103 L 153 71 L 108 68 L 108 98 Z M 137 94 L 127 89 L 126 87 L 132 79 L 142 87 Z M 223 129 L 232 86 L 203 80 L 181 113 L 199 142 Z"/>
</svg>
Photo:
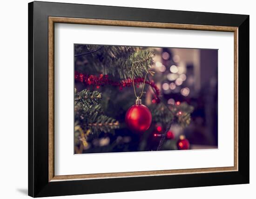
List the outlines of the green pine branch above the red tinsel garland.
<svg viewBox="0 0 256 199">
<path fill-rule="evenodd" d="M 131 46 L 101 46 L 77 45 L 75 54 L 85 51 L 95 51 L 88 56 L 76 57 L 81 65 L 77 64 L 79 72 L 90 74 L 103 73 L 116 79 L 131 78 L 131 67 L 135 68 L 135 77 L 141 77 L 145 73 L 151 73 L 154 53 L 148 48 Z M 79 59 L 78 59 L 79 58 Z"/>
</svg>

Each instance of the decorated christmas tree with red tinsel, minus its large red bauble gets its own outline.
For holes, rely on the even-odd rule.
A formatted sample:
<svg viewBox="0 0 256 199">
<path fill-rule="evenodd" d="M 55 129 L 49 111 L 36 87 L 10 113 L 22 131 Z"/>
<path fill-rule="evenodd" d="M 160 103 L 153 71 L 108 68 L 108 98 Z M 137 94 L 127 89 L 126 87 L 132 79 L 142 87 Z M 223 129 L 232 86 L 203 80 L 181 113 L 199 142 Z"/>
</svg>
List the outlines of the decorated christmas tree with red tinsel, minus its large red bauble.
<svg viewBox="0 0 256 199">
<path fill-rule="evenodd" d="M 162 97 L 157 85 L 163 79 L 156 70 L 158 53 L 150 47 L 74 45 L 75 153 L 189 148 L 188 140 L 174 138 L 170 128 L 188 126 L 193 107 Z M 136 96 L 152 114 L 151 125 L 141 133 L 125 121 Z"/>
</svg>

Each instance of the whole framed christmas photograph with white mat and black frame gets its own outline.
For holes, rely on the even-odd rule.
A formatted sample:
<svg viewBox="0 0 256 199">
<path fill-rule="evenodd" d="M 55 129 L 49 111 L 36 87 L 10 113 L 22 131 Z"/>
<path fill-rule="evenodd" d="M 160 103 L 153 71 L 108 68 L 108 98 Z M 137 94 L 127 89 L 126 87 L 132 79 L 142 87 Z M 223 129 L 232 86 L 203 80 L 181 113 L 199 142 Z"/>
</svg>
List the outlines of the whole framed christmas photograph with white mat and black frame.
<svg viewBox="0 0 256 199">
<path fill-rule="evenodd" d="M 28 194 L 249 183 L 249 16 L 28 4 Z"/>
</svg>

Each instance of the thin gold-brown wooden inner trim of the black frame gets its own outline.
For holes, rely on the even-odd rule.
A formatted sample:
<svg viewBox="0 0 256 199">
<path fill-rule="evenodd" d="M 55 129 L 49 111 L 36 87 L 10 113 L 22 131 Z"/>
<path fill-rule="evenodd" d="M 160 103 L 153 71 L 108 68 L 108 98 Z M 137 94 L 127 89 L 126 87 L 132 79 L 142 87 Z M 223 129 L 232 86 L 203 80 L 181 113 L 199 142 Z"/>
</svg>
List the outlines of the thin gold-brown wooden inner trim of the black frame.
<svg viewBox="0 0 256 199">
<path fill-rule="evenodd" d="M 233 32 L 234 33 L 234 166 L 55 176 L 54 175 L 54 23 Z M 49 102 L 48 102 L 48 106 L 49 106 L 49 110 L 48 110 L 49 112 L 48 113 L 48 135 L 49 135 L 48 137 L 49 138 L 48 140 L 48 150 L 49 150 L 48 180 L 49 182 L 56 181 L 56 180 L 101 179 L 101 178 L 120 178 L 120 177 L 136 177 L 136 176 L 151 176 L 151 175 L 238 171 L 238 27 L 48 17 L 48 53 L 49 53 L 49 56 L 48 56 L 48 78 L 49 78 L 48 79 L 48 99 L 49 99 Z"/>
</svg>

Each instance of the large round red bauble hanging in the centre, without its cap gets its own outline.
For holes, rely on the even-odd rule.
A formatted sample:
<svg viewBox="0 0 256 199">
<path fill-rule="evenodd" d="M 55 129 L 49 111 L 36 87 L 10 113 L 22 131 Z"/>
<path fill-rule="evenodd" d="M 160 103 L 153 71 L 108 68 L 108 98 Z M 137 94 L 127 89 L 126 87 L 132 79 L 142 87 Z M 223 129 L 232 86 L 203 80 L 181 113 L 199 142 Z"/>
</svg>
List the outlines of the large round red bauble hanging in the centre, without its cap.
<svg viewBox="0 0 256 199">
<path fill-rule="evenodd" d="M 143 133 L 151 125 L 152 115 L 147 106 L 133 105 L 125 115 L 125 122 L 128 128 L 136 133 Z"/>
</svg>

